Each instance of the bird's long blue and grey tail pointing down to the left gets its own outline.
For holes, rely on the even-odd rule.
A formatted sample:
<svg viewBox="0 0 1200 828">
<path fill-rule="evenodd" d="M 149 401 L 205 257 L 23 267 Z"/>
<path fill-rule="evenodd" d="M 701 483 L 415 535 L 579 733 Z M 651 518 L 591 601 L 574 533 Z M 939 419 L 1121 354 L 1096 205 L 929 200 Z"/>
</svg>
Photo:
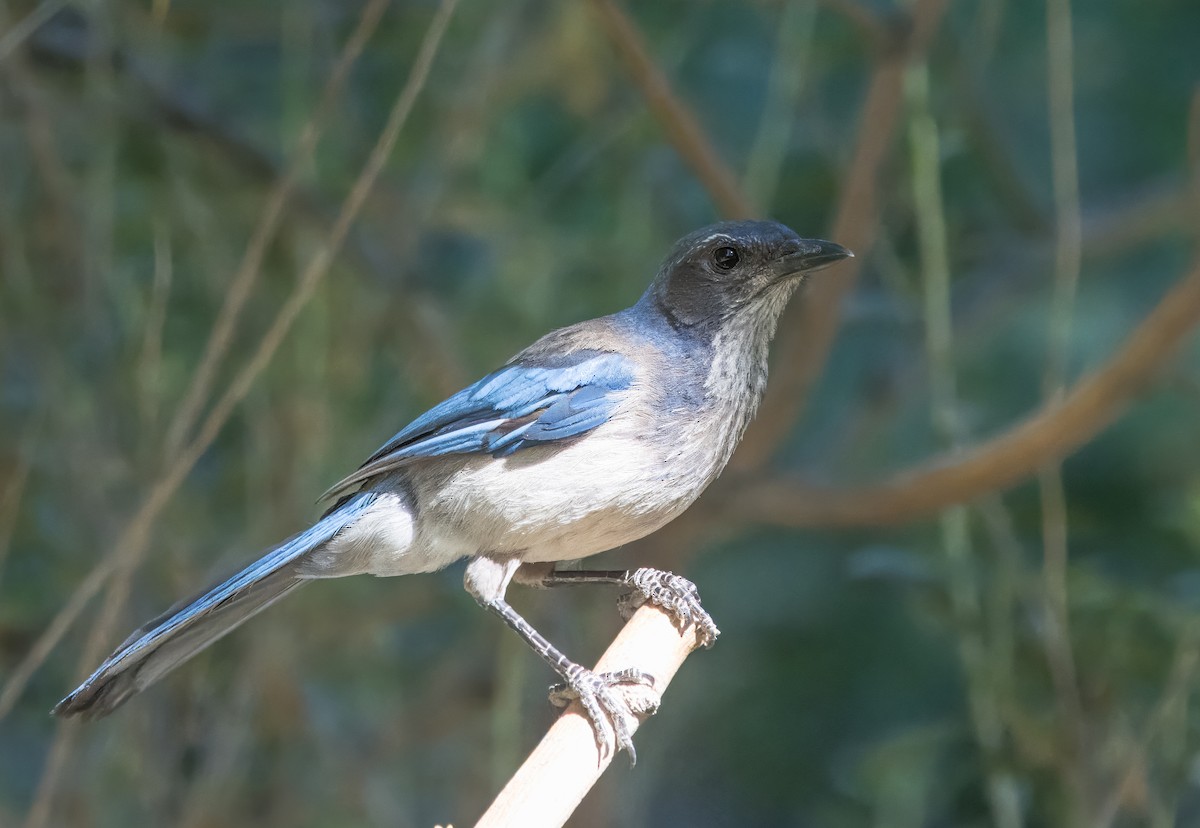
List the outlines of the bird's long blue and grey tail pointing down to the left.
<svg viewBox="0 0 1200 828">
<path fill-rule="evenodd" d="M 353 523 L 373 499 L 371 493 L 348 498 L 233 577 L 136 630 L 53 713 L 89 719 L 108 715 L 130 696 L 305 583 L 306 578 L 298 576 L 298 560 Z"/>
</svg>

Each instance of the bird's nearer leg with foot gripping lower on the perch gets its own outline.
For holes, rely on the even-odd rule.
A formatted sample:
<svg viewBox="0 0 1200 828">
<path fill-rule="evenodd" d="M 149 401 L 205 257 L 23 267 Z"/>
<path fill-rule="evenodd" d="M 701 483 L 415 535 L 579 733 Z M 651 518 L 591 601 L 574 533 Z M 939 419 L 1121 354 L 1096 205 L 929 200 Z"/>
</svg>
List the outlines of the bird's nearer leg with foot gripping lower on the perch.
<svg viewBox="0 0 1200 828">
<path fill-rule="evenodd" d="M 592 721 L 596 734 L 596 744 L 601 756 L 607 756 L 616 746 L 629 754 L 629 763 L 637 762 L 634 750 L 632 720 L 634 709 L 616 688 L 620 685 L 644 685 L 653 688 L 654 677 L 640 670 L 619 670 L 608 673 L 596 673 L 568 659 L 557 647 L 538 632 L 521 613 L 504 600 L 504 592 L 520 560 L 496 562 L 490 558 L 475 558 L 467 565 L 464 584 L 476 601 L 504 619 L 521 636 L 533 652 L 558 673 L 563 684 L 550 690 L 550 701 L 557 707 L 565 707 L 578 698 L 580 706 Z M 653 713 L 653 706 L 640 709 Z"/>
</svg>

